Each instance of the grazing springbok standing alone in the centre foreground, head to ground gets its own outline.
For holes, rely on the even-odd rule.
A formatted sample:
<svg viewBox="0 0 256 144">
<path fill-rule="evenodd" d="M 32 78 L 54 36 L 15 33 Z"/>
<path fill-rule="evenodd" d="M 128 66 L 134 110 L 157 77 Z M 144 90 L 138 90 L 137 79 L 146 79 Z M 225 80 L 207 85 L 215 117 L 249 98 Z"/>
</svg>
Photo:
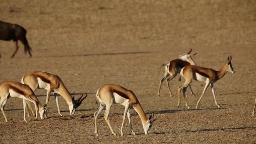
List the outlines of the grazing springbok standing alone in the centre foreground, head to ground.
<svg viewBox="0 0 256 144">
<path fill-rule="evenodd" d="M 97 109 L 96 112 L 94 113 L 96 136 L 99 136 L 98 129 L 97 129 L 97 117 L 98 117 L 99 113 L 102 111 L 102 109 L 104 109 L 104 107 L 106 107 L 106 110 L 104 113 L 104 118 L 105 118 L 112 134 L 116 136 L 113 128 L 111 127 L 111 125 L 109 123 L 109 119 L 108 119 L 109 111 L 112 107 L 112 104 L 121 104 L 121 105 L 125 106 L 125 112 L 123 115 L 123 123 L 121 126 L 121 136 L 123 136 L 123 124 L 125 122 L 126 115 L 129 120 L 131 132 L 133 133 L 133 135 L 135 135 L 135 133 L 133 132 L 132 125 L 131 125 L 131 115 L 129 112 L 130 108 L 134 108 L 135 111 L 139 114 L 145 134 L 149 133 L 150 128 L 153 125 L 154 114 L 150 115 L 150 117 L 147 118 L 145 112 L 143 111 L 143 109 L 141 107 L 141 104 L 139 103 L 139 101 L 136 98 L 133 91 L 127 90 L 126 88 L 123 88 L 120 85 L 108 84 L 108 85 L 103 85 L 103 86 L 101 86 L 101 88 L 99 88 L 99 90 L 96 93 L 96 98 L 100 103 L 99 109 Z"/>
</svg>

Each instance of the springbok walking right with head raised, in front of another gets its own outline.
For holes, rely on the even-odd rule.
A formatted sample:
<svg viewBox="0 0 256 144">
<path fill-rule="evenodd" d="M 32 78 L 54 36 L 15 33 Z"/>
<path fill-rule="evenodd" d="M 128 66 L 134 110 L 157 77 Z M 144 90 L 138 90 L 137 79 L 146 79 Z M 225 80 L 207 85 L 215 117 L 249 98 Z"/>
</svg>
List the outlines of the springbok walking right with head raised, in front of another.
<svg viewBox="0 0 256 144">
<path fill-rule="evenodd" d="M 185 82 L 179 86 L 179 93 L 182 90 L 183 96 L 186 100 L 186 106 L 188 109 L 189 109 L 189 105 L 187 103 L 187 98 L 185 97 L 185 92 L 188 85 L 192 83 L 193 80 L 205 82 L 205 88 L 203 89 L 203 93 L 200 96 L 199 100 L 197 101 L 196 108 L 198 108 L 198 105 L 209 85 L 211 86 L 211 91 L 213 93 L 215 104 L 216 106 L 220 107 L 217 104 L 217 101 L 215 98 L 213 83 L 215 83 L 217 80 L 220 80 L 222 77 L 224 77 L 224 75 L 226 75 L 227 72 L 231 72 L 232 74 L 235 73 L 235 69 L 233 69 L 231 64 L 231 59 L 232 59 L 232 56 L 228 56 L 226 63 L 219 71 L 216 71 L 211 68 L 197 67 L 197 66 L 187 66 L 181 69 L 181 76 L 184 77 Z M 178 107 L 179 107 L 179 104 L 180 104 L 180 94 L 179 94 L 179 100 L 178 100 Z"/>
</svg>

